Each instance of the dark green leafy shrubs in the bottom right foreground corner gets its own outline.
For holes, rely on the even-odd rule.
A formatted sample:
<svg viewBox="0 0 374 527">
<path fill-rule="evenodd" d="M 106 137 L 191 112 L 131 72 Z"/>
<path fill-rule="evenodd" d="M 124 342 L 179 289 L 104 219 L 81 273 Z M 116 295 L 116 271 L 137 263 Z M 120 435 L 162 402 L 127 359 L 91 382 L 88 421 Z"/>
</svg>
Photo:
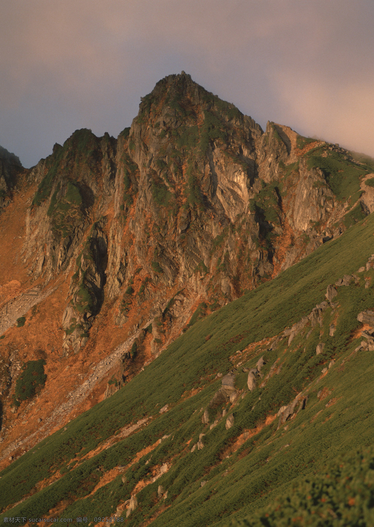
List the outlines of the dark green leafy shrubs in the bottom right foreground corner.
<svg viewBox="0 0 374 527">
<path fill-rule="evenodd" d="M 322 473 L 295 483 L 287 494 L 230 527 L 374 525 L 374 448 L 341 455 Z"/>
</svg>

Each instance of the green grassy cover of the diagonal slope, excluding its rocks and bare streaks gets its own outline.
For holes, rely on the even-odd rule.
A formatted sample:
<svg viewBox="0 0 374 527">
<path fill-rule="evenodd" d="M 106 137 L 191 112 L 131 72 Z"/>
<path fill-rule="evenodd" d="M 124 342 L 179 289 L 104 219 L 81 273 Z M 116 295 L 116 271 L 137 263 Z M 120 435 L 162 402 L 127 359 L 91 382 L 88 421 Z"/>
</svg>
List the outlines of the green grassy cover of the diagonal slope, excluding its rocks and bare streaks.
<svg viewBox="0 0 374 527">
<path fill-rule="evenodd" d="M 168 490 L 163 503 L 170 507 L 153 525 L 172 526 L 178 522 L 181 527 L 192 527 L 198 520 L 199 525 L 223 525 L 232 514 L 242 517 L 267 504 L 275 495 L 286 492 L 289 482 L 320 470 L 342 450 L 370 444 L 374 430 L 371 354 L 362 352 L 346 359 L 357 346 L 357 341 L 351 341 L 350 337 L 360 325 L 358 312 L 374 307 L 372 288 L 365 289 L 362 279 L 361 285 L 339 289 L 336 334 L 324 338 L 322 355 L 316 356 L 316 345 L 320 331 L 328 335 L 328 325 L 335 316 L 330 308 L 324 314 L 324 327 L 314 328 L 308 340 L 304 335 L 294 339 L 290 348 L 284 339 L 272 352 L 261 347 L 255 350 L 248 366 L 253 366 L 261 353 L 267 360 L 265 373 L 278 357 L 284 363 L 283 368 L 279 375 L 269 379 L 265 388 L 247 392 L 234 406 L 235 421 L 230 430 L 225 430 L 222 419 L 210 431 L 201 422 L 200 408 L 206 407 L 220 387 L 220 380 L 214 381 L 215 374 L 228 372 L 232 367 L 228 359 L 237 349 L 279 334 L 324 299 L 328 284 L 365 264 L 374 253 L 373 231 L 371 215 L 273 281 L 199 321 L 131 383 L 12 463 L 1 473 L 1 508 L 4 510 L 29 493 L 33 495 L 5 515 L 40 516 L 61 500 L 67 500 L 71 503 L 63 513 L 66 518 L 86 515 L 93 520 L 97 515 L 107 516 L 120 502 L 130 498 L 137 482 L 150 479 L 149 467 L 172 461 L 169 472 L 137 494 L 139 506 L 126 525 L 139 525 L 158 512 L 156 491 L 160 484 Z M 208 335 L 211 338 L 206 340 Z M 337 359 L 337 365 L 326 378 L 318 380 L 322 365 L 332 357 Z M 245 377 L 238 375 L 237 387 L 240 384 L 244 387 Z M 278 420 L 275 420 L 235 453 L 225 456 L 225 450 L 239 434 L 263 423 L 265 416 L 276 413 L 307 386 L 310 386 L 307 408 L 287 431 L 283 428 L 276 431 Z M 331 411 L 325 407 L 329 399 L 319 401 L 316 395 L 324 386 L 333 393 L 331 397 L 337 398 Z M 184 400 L 181 396 L 192 388 L 202 389 Z M 165 404 L 170 409 L 160 415 L 159 410 Z M 326 421 L 327 412 L 332 415 Z M 69 465 L 76 455 L 82 457 L 123 426 L 145 416 L 150 418 L 150 424 L 139 432 L 76 468 Z M 204 448 L 190 453 L 200 433 L 205 433 Z M 103 472 L 130 463 L 136 452 L 165 434 L 170 437 L 152 454 L 132 465 L 125 482 L 119 474 L 84 498 Z M 150 460 L 148 465 L 146 460 Z M 37 483 L 56 470 L 63 477 L 37 492 Z M 201 487 L 201 481 L 208 483 Z"/>
</svg>

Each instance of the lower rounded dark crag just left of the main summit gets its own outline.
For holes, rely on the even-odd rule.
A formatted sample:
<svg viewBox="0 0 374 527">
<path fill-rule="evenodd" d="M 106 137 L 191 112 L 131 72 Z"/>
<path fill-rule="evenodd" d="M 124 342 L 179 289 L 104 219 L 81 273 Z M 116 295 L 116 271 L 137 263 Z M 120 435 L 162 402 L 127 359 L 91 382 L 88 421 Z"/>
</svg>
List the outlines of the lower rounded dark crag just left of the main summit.
<svg viewBox="0 0 374 527">
<path fill-rule="evenodd" d="M 84 234 L 99 220 L 114 190 L 116 141 L 77 130 L 63 147 L 42 159 L 28 175 L 38 184 L 26 217 L 24 262 L 34 279 L 51 280 L 77 256 Z"/>
</svg>

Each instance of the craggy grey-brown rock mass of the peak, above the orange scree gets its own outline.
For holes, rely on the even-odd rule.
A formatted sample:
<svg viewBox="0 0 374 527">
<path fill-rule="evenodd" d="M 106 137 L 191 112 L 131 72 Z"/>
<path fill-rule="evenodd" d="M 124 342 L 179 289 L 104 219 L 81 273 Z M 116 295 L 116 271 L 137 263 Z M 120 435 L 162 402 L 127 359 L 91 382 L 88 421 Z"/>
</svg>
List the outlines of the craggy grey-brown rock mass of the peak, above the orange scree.
<svg viewBox="0 0 374 527">
<path fill-rule="evenodd" d="M 188 322 L 192 297 L 208 309 L 219 306 L 330 239 L 328 226 L 345 208 L 323 170 L 304 157 L 309 147 L 328 144 L 303 141 L 271 122 L 263 132 L 183 73 L 165 77 L 142 98 L 137 118 L 117 140 L 78 130 L 56 144 L 28 175 L 38 184 L 26 218 L 29 273 L 48 281 L 71 269 L 98 221 L 107 245 L 99 248 L 105 268 L 95 262 L 86 279 L 91 311 L 77 308 L 82 289 L 71 285 L 65 351 L 85 344 L 104 285 L 117 301 L 114 323 L 121 327 L 132 310 L 150 305 L 156 355 L 165 330 L 172 337 Z"/>
</svg>

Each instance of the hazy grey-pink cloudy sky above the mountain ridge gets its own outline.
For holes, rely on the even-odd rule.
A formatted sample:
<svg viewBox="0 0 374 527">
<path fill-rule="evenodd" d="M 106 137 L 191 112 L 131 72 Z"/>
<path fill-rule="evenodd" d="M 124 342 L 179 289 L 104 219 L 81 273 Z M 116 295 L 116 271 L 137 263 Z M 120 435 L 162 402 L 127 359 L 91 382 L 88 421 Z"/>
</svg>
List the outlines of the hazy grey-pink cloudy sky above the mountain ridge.
<svg viewBox="0 0 374 527">
<path fill-rule="evenodd" d="M 0 145 L 29 168 L 115 137 L 184 70 L 267 121 L 374 157 L 372 0 L 0 0 Z"/>
</svg>

